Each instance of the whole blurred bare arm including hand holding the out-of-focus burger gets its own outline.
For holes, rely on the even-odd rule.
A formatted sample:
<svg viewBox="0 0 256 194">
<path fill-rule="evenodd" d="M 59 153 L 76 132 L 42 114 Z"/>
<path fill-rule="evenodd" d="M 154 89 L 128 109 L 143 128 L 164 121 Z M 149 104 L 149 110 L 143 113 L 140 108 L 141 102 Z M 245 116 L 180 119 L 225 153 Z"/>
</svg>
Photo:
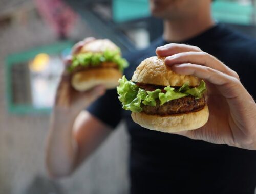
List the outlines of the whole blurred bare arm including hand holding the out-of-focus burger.
<svg viewBox="0 0 256 194">
<path fill-rule="evenodd" d="M 73 54 L 94 40 L 77 43 Z M 66 60 L 70 63 L 71 58 Z M 111 129 L 90 113 L 83 111 L 105 93 L 103 86 L 86 92 L 74 90 L 71 75 L 63 72 L 56 92 L 46 148 L 46 165 L 52 177 L 67 176 L 108 136 Z"/>
</svg>

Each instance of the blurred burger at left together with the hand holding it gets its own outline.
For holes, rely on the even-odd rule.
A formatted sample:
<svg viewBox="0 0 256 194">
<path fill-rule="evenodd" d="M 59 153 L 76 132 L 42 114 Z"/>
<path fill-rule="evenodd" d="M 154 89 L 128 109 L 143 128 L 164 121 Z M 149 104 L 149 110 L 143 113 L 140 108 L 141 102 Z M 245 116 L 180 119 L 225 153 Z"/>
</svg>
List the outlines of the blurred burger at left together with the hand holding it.
<svg viewBox="0 0 256 194">
<path fill-rule="evenodd" d="M 86 38 L 76 43 L 66 60 L 56 92 L 54 110 L 76 116 L 106 89 L 118 85 L 127 61 L 110 40 Z"/>
</svg>

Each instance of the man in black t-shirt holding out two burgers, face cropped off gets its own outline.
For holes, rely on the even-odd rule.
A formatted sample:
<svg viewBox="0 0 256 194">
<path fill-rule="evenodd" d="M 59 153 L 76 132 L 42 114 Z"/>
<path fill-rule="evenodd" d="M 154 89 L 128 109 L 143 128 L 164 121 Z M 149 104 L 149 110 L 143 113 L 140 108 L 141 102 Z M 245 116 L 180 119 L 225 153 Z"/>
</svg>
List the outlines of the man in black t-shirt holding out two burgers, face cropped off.
<svg viewBox="0 0 256 194">
<path fill-rule="evenodd" d="M 124 74 L 131 79 L 143 59 L 166 56 L 175 72 L 207 82 L 208 123 L 177 134 L 143 129 L 122 110 L 116 90 L 78 93 L 63 74 L 47 144 L 50 175 L 74 172 L 124 119 L 131 193 L 254 193 L 256 41 L 215 22 L 211 0 L 151 0 L 150 6 L 164 20 L 163 37 L 127 54 Z M 79 42 L 74 53 L 91 40 Z"/>
</svg>

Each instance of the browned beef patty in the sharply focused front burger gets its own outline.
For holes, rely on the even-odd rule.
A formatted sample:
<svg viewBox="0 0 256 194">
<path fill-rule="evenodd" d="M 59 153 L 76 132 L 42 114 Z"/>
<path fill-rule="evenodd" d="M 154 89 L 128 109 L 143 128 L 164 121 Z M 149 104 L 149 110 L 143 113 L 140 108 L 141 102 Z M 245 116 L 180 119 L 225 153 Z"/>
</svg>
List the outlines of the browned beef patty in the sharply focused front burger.
<svg viewBox="0 0 256 194">
<path fill-rule="evenodd" d="M 145 114 L 167 116 L 172 114 L 181 114 L 188 112 L 196 112 L 205 106 L 204 96 L 196 99 L 194 96 L 185 96 L 180 99 L 172 100 L 160 106 L 160 100 L 156 100 L 156 106 L 144 105 L 141 107 Z"/>
</svg>

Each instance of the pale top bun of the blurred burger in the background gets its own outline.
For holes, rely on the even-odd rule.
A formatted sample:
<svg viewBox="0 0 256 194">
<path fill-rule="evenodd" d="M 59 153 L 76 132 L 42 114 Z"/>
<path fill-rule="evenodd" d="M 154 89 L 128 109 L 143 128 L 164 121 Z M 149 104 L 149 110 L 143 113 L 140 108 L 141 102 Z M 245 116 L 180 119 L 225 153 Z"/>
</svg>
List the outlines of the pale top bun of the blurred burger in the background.
<svg viewBox="0 0 256 194">
<path fill-rule="evenodd" d="M 106 50 L 119 51 L 119 48 L 109 39 L 97 39 L 85 44 L 81 48 L 80 53 L 103 53 Z"/>
</svg>

